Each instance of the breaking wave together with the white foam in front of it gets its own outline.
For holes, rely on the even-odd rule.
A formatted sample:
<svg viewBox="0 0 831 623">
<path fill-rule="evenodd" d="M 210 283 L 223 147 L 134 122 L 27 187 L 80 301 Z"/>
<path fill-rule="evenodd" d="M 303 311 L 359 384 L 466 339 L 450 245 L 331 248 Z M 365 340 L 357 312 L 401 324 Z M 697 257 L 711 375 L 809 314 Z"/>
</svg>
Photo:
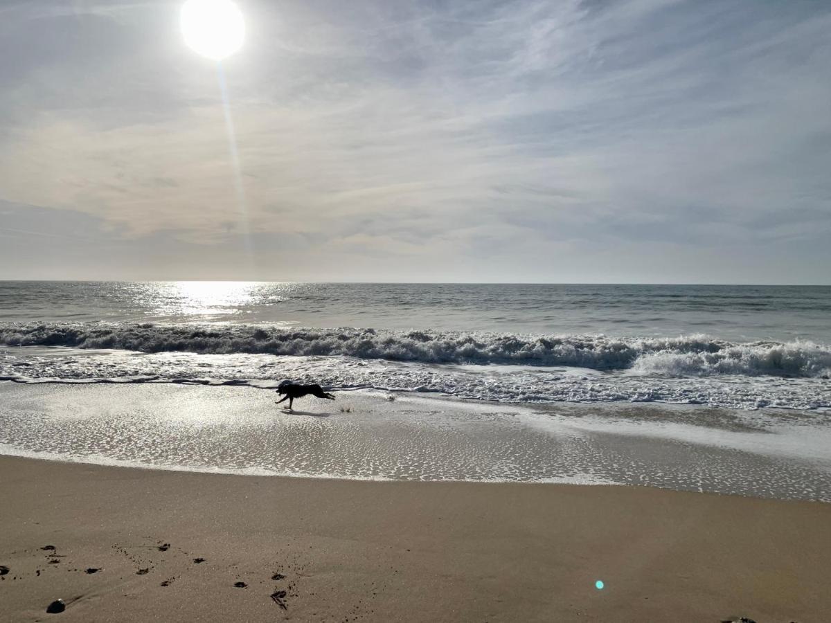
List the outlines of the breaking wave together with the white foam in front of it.
<svg viewBox="0 0 831 623">
<path fill-rule="evenodd" d="M 831 410 L 831 349 L 808 341 L 530 336 L 257 325 L 0 325 L 0 380 L 438 392 L 505 402 Z"/>
</svg>

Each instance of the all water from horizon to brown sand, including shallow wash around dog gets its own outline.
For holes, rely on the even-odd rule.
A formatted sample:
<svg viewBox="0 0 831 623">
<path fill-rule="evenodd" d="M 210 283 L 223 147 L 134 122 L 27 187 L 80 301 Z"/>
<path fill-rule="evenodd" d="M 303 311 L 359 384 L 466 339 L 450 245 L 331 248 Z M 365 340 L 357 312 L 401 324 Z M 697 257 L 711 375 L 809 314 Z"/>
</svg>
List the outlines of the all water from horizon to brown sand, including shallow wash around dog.
<svg viewBox="0 0 831 623">
<path fill-rule="evenodd" d="M 829 502 L 829 312 L 829 287 L 0 282 L 0 454 Z M 284 412 L 285 379 L 337 400 Z"/>
</svg>

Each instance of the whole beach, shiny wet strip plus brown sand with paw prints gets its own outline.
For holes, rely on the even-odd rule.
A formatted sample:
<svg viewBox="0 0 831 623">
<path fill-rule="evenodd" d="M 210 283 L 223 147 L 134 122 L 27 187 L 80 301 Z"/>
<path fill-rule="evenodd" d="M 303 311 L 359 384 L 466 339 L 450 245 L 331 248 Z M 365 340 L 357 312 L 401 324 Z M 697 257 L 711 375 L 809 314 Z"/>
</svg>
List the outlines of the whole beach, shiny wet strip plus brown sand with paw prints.
<svg viewBox="0 0 831 623">
<path fill-rule="evenodd" d="M 0 618 L 803 623 L 831 611 L 817 415 L 366 390 L 288 412 L 274 398 L 0 385 Z M 66 610 L 47 614 L 58 598 Z"/>
</svg>

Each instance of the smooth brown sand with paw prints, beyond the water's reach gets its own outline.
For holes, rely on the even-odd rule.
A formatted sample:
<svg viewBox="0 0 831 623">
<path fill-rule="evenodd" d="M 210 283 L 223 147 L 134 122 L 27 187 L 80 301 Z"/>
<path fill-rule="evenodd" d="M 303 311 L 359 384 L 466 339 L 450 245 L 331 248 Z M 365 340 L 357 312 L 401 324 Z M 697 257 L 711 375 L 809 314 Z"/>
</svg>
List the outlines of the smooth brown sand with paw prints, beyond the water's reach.
<svg viewBox="0 0 831 623">
<path fill-rule="evenodd" d="M 831 613 L 823 503 L 11 457 L 0 473 L 2 621 L 804 623 Z M 47 614 L 58 597 L 66 611 Z"/>
</svg>

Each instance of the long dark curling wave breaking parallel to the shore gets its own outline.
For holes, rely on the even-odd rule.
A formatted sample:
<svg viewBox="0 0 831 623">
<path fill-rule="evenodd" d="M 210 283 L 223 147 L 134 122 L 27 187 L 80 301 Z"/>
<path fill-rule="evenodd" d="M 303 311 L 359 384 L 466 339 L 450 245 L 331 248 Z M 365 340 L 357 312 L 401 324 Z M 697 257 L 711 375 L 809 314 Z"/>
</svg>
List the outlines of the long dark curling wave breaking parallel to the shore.
<svg viewBox="0 0 831 623">
<path fill-rule="evenodd" d="M 258 325 L 4 323 L 0 344 L 203 354 L 560 365 L 645 375 L 828 378 L 831 347 L 809 341 L 735 343 L 708 336 L 612 338 L 455 331 L 284 329 Z"/>
</svg>

